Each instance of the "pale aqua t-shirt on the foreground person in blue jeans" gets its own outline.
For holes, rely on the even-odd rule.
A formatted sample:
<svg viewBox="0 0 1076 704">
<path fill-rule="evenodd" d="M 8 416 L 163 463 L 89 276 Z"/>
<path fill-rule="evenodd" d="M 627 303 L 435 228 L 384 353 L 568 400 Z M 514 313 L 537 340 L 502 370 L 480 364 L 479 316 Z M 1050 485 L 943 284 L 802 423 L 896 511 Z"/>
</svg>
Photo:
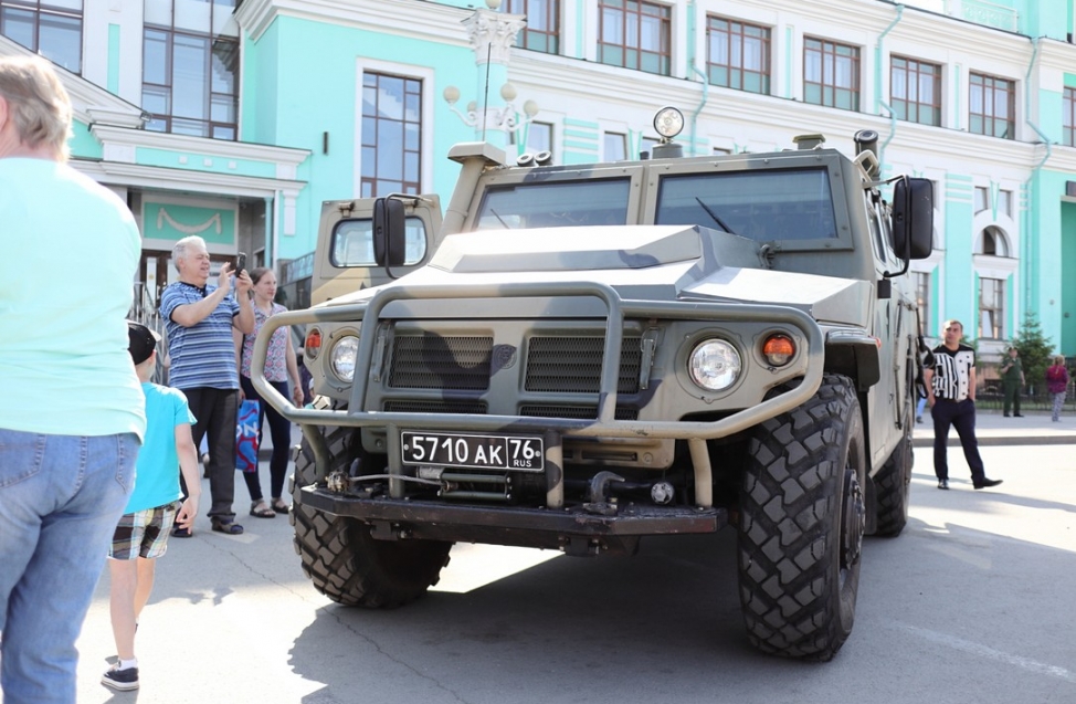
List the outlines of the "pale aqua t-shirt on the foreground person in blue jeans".
<svg viewBox="0 0 1076 704">
<path fill-rule="evenodd" d="M 0 242 L 0 428 L 141 438 L 125 322 L 141 237 L 127 206 L 65 164 L 2 158 Z"/>
</svg>

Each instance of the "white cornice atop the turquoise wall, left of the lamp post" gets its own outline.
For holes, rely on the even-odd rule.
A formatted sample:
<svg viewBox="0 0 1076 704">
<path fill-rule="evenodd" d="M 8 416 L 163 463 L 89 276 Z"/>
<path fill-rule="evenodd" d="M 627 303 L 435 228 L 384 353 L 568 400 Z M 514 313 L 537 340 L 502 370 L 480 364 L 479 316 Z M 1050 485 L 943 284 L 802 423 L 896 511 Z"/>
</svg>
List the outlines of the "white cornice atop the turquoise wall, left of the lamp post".
<svg viewBox="0 0 1076 704">
<path fill-rule="evenodd" d="M 235 19 L 257 41 L 277 17 L 470 46 L 462 22 L 474 11 L 419 0 L 245 0 Z"/>
</svg>

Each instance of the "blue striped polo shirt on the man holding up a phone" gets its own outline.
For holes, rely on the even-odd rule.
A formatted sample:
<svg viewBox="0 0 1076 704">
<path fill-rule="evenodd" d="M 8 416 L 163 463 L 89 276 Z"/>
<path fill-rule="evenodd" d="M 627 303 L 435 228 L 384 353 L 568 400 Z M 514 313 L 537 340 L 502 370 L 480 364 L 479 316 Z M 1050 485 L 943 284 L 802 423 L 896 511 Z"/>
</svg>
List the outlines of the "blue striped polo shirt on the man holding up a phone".
<svg viewBox="0 0 1076 704">
<path fill-rule="evenodd" d="M 198 303 L 217 291 L 177 281 L 160 294 L 160 314 L 168 333 L 168 383 L 177 389 L 212 387 L 238 389 L 235 342 L 232 339 L 232 318 L 239 315 L 239 304 L 229 293 L 205 319 L 183 327 L 172 321 L 172 313 L 181 305 Z"/>
</svg>

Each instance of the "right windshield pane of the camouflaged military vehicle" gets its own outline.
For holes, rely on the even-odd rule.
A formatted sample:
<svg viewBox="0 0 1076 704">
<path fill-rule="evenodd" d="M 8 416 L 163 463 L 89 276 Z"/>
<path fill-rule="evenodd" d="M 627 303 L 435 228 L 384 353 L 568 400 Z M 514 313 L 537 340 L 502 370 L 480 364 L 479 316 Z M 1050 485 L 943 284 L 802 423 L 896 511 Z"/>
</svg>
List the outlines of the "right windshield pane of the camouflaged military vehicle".
<svg viewBox="0 0 1076 704">
<path fill-rule="evenodd" d="M 758 242 L 837 237 L 824 168 L 666 176 L 655 222 L 698 224 Z"/>
</svg>

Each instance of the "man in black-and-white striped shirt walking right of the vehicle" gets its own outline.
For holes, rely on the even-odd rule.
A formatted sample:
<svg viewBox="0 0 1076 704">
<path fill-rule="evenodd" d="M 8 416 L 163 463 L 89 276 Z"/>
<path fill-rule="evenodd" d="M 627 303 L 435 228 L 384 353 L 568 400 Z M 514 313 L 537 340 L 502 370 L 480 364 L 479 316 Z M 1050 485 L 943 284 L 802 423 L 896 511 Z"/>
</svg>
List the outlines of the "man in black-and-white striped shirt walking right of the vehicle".
<svg viewBox="0 0 1076 704">
<path fill-rule="evenodd" d="M 957 429 L 975 488 L 1001 484 L 989 480 L 979 456 L 975 438 L 975 350 L 961 345 L 964 328 L 959 321 L 946 321 L 945 342 L 933 348 L 933 365 L 924 370 L 927 402 L 933 416 L 933 471 L 938 488 L 949 488 L 949 427 Z"/>
</svg>

